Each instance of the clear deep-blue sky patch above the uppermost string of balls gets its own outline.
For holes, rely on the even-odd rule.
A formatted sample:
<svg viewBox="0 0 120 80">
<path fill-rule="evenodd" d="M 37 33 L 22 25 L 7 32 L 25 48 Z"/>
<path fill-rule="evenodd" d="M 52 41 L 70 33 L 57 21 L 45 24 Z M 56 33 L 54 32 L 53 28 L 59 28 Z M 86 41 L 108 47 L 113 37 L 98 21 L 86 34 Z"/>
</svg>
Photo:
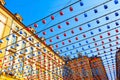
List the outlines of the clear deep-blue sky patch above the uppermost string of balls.
<svg viewBox="0 0 120 80">
<path fill-rule="evenodd" d="M 51 12 L 63 8 L 70 0 L 5 0 L 6 7 L 12 13 L 22 15 L 25 25 L 41 19 Z"/>
</svg>

